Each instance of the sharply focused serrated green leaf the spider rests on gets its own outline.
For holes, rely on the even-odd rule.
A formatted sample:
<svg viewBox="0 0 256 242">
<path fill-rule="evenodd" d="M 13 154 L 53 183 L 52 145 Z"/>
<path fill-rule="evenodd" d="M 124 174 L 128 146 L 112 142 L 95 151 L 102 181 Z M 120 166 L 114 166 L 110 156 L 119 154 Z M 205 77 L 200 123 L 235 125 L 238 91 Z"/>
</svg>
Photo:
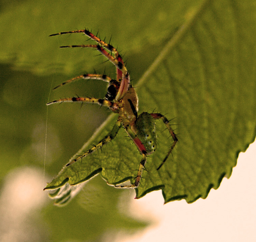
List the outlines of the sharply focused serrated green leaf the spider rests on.
<svg viewBox="0 0 256 242">
<path fill-rule="evenodd" d="M 156 171 L 172 142 L 157 124 L 158 149 L 147 159 L 137 198 L 161 189 L 166 203 L 191 203 L 230 177 L 239 152 L 255 137 L 255 17 L 254 1 L 203 1 L 190 9 L 136 84 L 140 111 L 174 118 L 179 138 L 173 156 Z M 77 154 L 99 142 L 116 118 L 110 115 Z M 79 184 L 97 173 L 111 184 L 132 181 L 141 156 L 125 136 L 121 129 L 102 152 L 64 167 L 46 189 Z"/>
</svg>

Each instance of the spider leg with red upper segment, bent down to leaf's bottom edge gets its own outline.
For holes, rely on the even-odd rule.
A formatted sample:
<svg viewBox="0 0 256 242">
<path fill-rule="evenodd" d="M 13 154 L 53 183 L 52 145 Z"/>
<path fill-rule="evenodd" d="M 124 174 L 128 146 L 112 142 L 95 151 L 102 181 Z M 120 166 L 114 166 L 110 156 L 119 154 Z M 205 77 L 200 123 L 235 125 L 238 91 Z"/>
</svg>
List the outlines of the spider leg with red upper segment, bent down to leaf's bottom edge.
<svg viewBox="0 0 256 242">
<path fill-rule="evenodd" d="M 146 159 L 147 159 L 147 151 L 146 151 L 145 146 L 141 143 L 140 139 L 132 131 L 130 126 L 126 125 L 126 126 L 124 126 L 124 128 L 125 128 L 125 131 L 127 132 L 127 134 L 129 135 L 129 137 L 131 138 L 131 140 L 133 141 L 133 143 L 136 144 L 136 146 L 138 147 L 138 149 L 139 149 L 139 151 L 140 151 L 140 153 L 142 155 L 142 159 L 140 161 L 140 165 L 139 165 L 139 169 L 138 169 L 138 174 L 135 177 L 135 182 L 133 184 L 130 184 L 130 185 L 115 185 L 115 187 L 116 188 L 136 188 L 140 184 L 142 171 L 145 168 L 145 163 L 146 163 Z"/>
</svg>

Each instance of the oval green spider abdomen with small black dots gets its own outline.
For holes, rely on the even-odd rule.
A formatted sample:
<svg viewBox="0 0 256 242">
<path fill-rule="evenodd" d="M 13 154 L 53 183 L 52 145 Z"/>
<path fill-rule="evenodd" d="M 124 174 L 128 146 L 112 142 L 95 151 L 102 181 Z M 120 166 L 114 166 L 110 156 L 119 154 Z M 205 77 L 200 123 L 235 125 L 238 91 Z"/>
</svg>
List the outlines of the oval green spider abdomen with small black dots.
<svg viewBox="0 0 256 242">
<path fill-rule="evenodd" d="M 153 153 L 156 148 L 156 124 L 151 114 L 143 112 L 136 121 L 137 137 L 145 146 L 147 154 Z"/>
</svg>

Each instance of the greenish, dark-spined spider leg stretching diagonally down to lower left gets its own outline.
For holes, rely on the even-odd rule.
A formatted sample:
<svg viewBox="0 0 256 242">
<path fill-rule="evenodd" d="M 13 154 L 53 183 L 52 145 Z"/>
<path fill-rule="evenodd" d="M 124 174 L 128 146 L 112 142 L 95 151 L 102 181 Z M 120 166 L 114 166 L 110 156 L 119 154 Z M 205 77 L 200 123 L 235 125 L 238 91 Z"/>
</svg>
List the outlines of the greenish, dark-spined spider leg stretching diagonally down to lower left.
<svg viewBox="0 0 256 242">
<path fill-rule="evenodd" d="M 93 153 L 94 151 L 101 149 L 103 145 L 108 144 L 110 141 L 112 141 L 115 138 L 115 136 L 121 126 L 122 126 L 122 121 L 121 121 L 121 119 L 118 118 L 113 129 L 111 130 L 111 132 L 108 135 L 105 136 L 104 139 L 102 139 L 97 145 L 94 145 L 92 148 L 88 149 L 83 155 L 79 156 L 76 159 L 70 160 L 66 166 L 69 166 L 69 165 L 75 163 L 76 161 L 83 159 L 84 157 L 88 156 L 89 154 Z"/>
</svg>

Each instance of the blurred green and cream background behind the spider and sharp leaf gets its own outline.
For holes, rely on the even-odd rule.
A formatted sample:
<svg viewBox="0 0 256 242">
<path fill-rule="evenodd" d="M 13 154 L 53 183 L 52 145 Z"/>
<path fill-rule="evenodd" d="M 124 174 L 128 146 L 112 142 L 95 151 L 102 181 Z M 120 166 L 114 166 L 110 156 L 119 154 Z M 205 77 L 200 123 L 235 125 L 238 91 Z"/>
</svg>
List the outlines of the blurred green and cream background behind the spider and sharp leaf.
<svg viewBox="0 0 256 242">
<path fill-rule="evenodd" d="M 201 2 L 132 1 L 134 9 L 127 12 L 118 1 L 0 1 L 0 241 L 255 241 L 255 144 L 241 154 L 229 180 L 190 205 L 182 200 L 163 206 L 160 191 L 134 200 L 134 191 L 113 189 L 99 176 L 65 207 L 53 206 L 43 191 L 109 115 L 96 105 L 47 109 L 52 87 L 84 72 L 114 73 L 95 52 L 65 54 L 58 49 L 63 42 L 47 36 L 85 27 L 112 36 L 136 82 L 166 42 L 168 14 L 180 26 L 179 16 Z M 152 34 L 154 25 L 161 28 Z M 73 58 L 81 58 L 80 64 Z M 77 82 L 64 95 L 103 97 L 105 90 L 101 82 L 88 81 L 86 88 Z"/>
</svg>

